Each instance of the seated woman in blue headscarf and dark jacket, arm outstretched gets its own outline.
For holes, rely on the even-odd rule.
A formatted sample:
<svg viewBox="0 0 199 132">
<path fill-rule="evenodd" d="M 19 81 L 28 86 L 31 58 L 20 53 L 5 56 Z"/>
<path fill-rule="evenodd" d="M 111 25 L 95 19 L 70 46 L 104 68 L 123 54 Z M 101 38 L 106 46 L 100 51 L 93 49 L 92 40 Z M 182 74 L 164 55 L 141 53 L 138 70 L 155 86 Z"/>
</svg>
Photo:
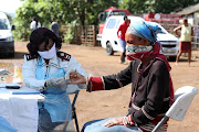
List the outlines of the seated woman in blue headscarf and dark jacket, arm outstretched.
<svg viewBox="0 0 199 132">
<path fill-rule="evenodd" d="M 129 66 L 118 74 L 84 77 L 71 73 L 73 84 L 87 84 L 87 91 L 111 90 L 132 84 L 128 112 L 121 118 L 101 119 L 84 124 L 82 132 L 150 132 L 169 109 L 174 99 L 169 63 L 159 54 L 155 23 L 132 22 L 127 29 L 127 59 Z M 167 122 L 160 128 L 167 130 Z"/>
</svg>

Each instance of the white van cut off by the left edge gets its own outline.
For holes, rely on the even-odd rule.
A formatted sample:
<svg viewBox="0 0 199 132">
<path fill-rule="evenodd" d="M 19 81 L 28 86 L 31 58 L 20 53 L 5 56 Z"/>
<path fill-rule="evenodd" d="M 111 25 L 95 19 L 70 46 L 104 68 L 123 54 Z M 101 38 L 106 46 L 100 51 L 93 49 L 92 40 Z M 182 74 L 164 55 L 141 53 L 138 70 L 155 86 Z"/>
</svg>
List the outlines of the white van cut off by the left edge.
<svg viewBox="0 0 199 132">
<path fill-rule="evenodd" d="M 11 26 L 3 12 L 0 12 L 0 54 L 9 54 L 10 57 L 14 56 L 14 41 Z"/>
</svg>

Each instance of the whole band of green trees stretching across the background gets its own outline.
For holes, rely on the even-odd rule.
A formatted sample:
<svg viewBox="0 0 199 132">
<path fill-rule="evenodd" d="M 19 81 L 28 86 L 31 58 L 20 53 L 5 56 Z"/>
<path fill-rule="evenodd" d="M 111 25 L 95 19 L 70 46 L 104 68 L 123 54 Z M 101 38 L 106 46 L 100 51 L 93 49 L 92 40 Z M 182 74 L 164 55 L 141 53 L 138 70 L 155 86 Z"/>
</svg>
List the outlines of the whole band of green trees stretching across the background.
<svg viewBox="0 0 199 132">
<path fill-rule="evenodd" d="M 129 10 L 130 14 L 169 13 L 198 3 L 199 0 L 25 0 L 15 12 L 14 36 L 28 40 L 30 22 L 36 16 L 42 26 L 50 28 L 53 18 L 60 24 L 98 24 L 98 13 L 109 7 Z"/>
</svg>

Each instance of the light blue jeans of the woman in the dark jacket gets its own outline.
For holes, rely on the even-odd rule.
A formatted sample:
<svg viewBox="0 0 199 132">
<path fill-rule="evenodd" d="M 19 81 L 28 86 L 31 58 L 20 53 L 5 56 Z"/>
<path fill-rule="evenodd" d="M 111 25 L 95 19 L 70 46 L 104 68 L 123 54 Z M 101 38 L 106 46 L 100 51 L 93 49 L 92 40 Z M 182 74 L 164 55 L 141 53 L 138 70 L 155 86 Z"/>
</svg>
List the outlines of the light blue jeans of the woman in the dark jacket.
<svg viewBox="0 0 199 132">
<path fill-rule="evenodd" d="M 84 127 L 82 128 L 81 132 L 143 132 L 137 127 L 125 127 L 125 125 L 114 125 L 114 127 L 102 127 L 105 124 L 108 120 L 112 120 L 113 118 L 108 119 L 100 119 L 86 122 Z"/>
</svg>

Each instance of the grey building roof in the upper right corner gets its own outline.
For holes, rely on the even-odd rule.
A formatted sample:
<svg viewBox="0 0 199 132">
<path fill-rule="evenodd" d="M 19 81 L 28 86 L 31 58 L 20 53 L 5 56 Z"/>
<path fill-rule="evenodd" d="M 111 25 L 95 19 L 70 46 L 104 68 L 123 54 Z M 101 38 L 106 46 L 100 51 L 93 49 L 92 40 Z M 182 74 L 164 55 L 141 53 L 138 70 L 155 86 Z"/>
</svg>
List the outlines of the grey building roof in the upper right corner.
<svg viewBox="0 0 199 132">
<path fill-rule="evenodd" d="M 181 11 L 177 12 L 177 14 L 191 14 L 197 11 L 199 11 L 199 3 L 187 7 L 187 8 L 182 9 Z"/>
</svg>

